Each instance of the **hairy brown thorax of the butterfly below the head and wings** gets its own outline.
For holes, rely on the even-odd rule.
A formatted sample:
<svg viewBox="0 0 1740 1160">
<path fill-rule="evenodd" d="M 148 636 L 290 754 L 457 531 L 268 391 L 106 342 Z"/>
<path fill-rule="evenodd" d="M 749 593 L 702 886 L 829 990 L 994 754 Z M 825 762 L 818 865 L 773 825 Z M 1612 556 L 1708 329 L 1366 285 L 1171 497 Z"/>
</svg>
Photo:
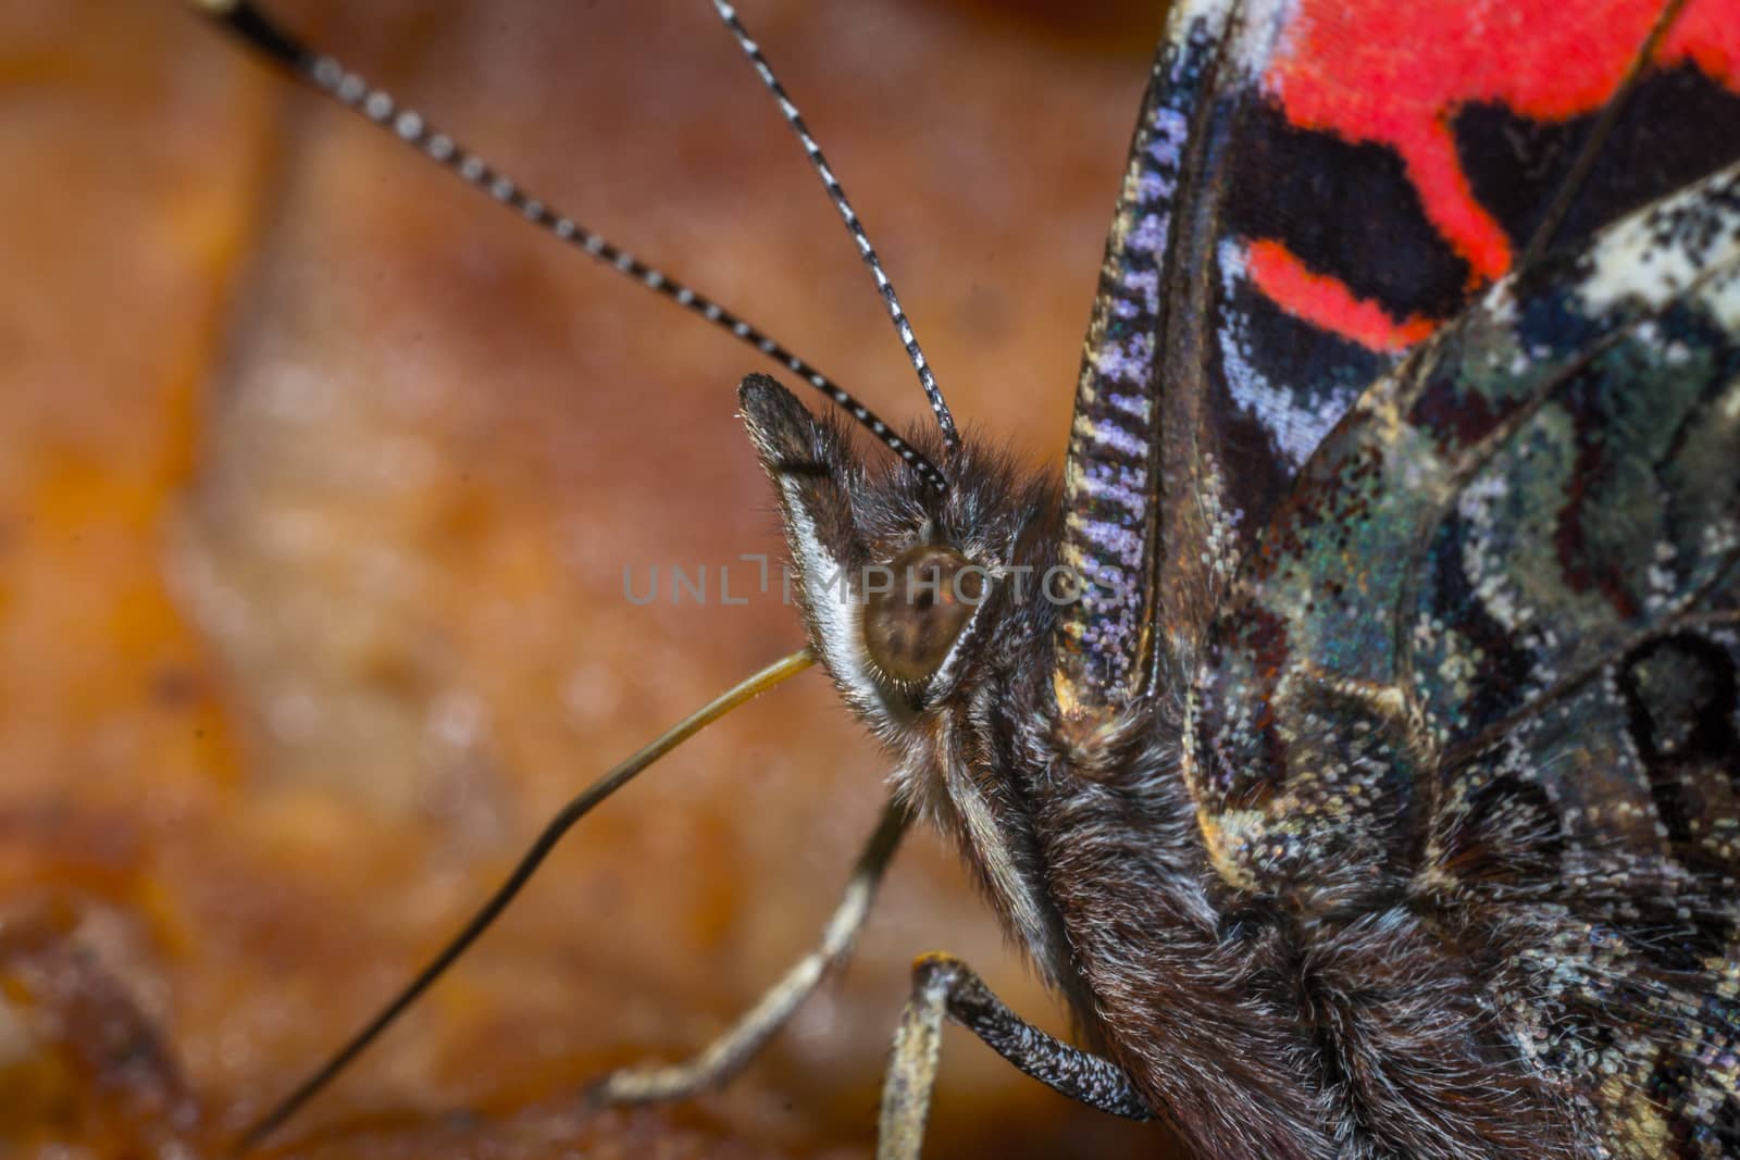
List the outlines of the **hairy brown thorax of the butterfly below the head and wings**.
<svg viewBox="0 0 1740 1160">
<path fill-rule="evenodd" d="M 907 784 L 931 790 L 1082 1037 L 1204 1155 L 1582 1155 L 1455 917 L 1404 889 L 1324 911 L 1230 885 L 1180 774 L 1176 701 L 1084 730 L 1030 677 L 1046 666 L 999 668 Z"/>
</svg>

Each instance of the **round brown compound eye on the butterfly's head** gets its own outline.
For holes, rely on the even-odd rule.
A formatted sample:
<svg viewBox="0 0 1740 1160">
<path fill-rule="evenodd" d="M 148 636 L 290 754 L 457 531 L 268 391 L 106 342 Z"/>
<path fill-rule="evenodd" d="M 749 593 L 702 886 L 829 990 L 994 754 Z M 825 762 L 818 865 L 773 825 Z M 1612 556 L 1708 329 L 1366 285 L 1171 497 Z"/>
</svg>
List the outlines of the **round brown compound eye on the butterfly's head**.
<svg viewBox="0 0 1740 1160">
<path fill-rule="evenodd" d="M 985 572 L 954 548 L 919 544 L 870 569 L 865 647 L 889 680 L 915 685 L 941 666 L 985 600 Z"/>
</svg>

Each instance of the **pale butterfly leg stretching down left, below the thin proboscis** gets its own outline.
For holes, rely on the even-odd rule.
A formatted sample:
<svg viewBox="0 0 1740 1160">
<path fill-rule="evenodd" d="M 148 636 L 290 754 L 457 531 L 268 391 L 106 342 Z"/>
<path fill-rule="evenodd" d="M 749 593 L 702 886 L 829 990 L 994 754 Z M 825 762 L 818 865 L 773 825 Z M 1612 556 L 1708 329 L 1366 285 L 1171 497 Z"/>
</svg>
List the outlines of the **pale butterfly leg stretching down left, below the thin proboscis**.
<svg viewBox="0 0 1740 1160">
<path fill-rule="evenodd" d="M 912 812 L 889 802 L 882 821 L 865 843 L 846 883 L 846 896 L 821 932 L 821 944 L 804 955 L 785 976 L 750 1007 L 724 1035 L 684 1063 L 668 1066 L 623 1068 L 599 1080 L 590 1099 L 599 1104 L 646 1104 L 687 1099 L 719 1087 L 743 1070 L 755 1052 L 773 1038 L 786 1019 L 809 998 L 853 950 L 853 941 L 870 915 L 870 903 L 894 859 L 901 837 L 912 824 Z"/>
</svg>

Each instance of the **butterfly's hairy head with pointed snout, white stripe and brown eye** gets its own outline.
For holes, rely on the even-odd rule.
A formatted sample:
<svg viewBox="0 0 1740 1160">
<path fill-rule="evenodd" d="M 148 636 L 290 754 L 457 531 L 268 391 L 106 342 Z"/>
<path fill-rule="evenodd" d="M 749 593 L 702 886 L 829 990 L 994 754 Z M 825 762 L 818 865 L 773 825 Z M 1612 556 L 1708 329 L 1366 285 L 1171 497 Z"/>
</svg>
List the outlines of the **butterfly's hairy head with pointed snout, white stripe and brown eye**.
<svg viewBox="0 0 1740 1160">
<path fill-rule="evenodd" d="M 971 442 L 947 485 L 870 471 L 832 416 L 767 376 L 740 390 L 774 483 L 811 643 L 853 710 L 898 737 L 990 677 L 1049 626 L 1039 577 L 1056 499 Z"/>
</svg>

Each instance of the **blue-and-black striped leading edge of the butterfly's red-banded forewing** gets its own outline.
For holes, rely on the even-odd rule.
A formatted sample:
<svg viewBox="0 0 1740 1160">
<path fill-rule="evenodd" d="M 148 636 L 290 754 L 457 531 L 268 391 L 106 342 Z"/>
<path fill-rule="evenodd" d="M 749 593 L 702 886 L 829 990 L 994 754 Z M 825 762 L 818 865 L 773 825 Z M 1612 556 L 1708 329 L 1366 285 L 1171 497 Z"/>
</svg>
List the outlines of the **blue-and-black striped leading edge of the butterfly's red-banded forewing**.
<svg viewBox="0 0 1740 1160">
<path fill-rule="evenodd" d="M 1169 647 L 1155 624 L 1187 619 L 1159 555 L 1208 537 L 1202 513 L 1168 504 L 1188 456 L 1169 433 L 1201 423 L 1208 334 L 1201 303 L 1216 240 L 1221 143 L 1279 31 L 1274 5 L 1174 5 L 1141 104 L 1082 351 L 1065 466 L 1063 563 L 1082 598 L 1056 630 L 1053 687 L 1067 713 L 1128 703 Z M 1255 30 L 1255 31 L 1249 31 Z M 1171 442 L 1168 442 L 1171 440 Z M 1194 463 L 1183 464 L 1194 475 Z M 1195 595 L 1194 591 L 1188 595 Z"/>
</svg>

